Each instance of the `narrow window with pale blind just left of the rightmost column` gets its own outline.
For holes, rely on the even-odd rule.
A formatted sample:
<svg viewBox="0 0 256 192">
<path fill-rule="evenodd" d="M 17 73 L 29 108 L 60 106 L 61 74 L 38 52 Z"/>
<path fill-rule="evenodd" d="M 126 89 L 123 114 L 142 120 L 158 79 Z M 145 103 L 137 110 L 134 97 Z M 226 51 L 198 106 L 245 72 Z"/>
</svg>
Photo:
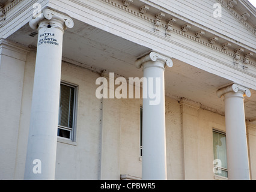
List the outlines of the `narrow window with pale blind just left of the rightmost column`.
<svg viewBox="0 0 256 192">
<path fill-rule="evenodd" d="M 213 130 L 213 157 L 215 175 L 228 177 L 226 136 Z"/>
</svg>

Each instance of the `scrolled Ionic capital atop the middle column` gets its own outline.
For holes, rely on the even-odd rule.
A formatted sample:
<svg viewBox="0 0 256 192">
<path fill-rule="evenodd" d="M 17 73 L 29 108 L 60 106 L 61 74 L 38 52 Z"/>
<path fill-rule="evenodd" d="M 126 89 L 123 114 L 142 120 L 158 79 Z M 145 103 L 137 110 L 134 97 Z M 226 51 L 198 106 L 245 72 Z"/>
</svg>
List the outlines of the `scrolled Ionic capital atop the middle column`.
<svg viewBox="0 0 256 192">
<path fill-rule="evenodd" d="M 141 65 L 144 64 L 145 62 L 157 61 L 157 60 L 162 61 L 164 63 L 164 65 L 167 65 L 168 67 L 172 67 L 172 65 L 173 65 L 171 58 L 168 58 L 168 57 L 163 56 L 156 52 L 151 52 L 150 54 L 145 55 L 142 58 L 138 59 L 135 62 L 135 66 L 137 68 L 141 68 Z"/>
</svg>

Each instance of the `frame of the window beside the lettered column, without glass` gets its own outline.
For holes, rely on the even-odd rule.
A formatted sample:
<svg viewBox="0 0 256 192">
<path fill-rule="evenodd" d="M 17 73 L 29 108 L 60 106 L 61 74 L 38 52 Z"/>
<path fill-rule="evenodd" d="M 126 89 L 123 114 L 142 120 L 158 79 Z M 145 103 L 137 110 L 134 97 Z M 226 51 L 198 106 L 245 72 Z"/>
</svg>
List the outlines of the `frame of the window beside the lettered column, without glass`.
<svg viewBox="0 0 256 192">
<path fill-rule="evenodd" d="M 73 83 L 69 83 L 66 81 L 61 80 L 60 85 L 65 85 L 65 86 L 69 86 L 71 88 L 74 88 L 74 95 L 73 95 L 73 122 L 72 122 L 72 128 L 70 127 L 66 127 L 66 126 L 62 126 L 58 124 L 58 129 L 61 130 L 68 130 L 70 131 L 70 137 L 66 138 L 66 137 L 61 137 L 58 136 L 57 133 L 57 138 L 58 141 L 60 141 L 59 139 L 61 139 L 61 141 L 67 141 L 67 142 L 76 142 L 76 116 L 77 116 L 77 109 L 78 109 L 78 85 L 75 85 Z M 61 86 L 59 87 L 59 96 L 61 94 Z M 59 119 L 59 112 L 58 112 L 58 119 Z"/>
</svg>

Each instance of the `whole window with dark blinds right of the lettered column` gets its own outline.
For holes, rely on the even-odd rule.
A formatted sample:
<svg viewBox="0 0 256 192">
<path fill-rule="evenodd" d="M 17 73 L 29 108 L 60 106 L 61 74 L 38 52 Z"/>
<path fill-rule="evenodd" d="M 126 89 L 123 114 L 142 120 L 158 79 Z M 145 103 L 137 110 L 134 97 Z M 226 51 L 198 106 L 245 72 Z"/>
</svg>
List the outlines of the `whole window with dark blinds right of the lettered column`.
<svg viewBox="0 0 256 192">
<path fill-rule="evenodd" d="M 74 140 L 76 86 L 61 83 L 59 91 L 58 136 Z"/>
</svg>

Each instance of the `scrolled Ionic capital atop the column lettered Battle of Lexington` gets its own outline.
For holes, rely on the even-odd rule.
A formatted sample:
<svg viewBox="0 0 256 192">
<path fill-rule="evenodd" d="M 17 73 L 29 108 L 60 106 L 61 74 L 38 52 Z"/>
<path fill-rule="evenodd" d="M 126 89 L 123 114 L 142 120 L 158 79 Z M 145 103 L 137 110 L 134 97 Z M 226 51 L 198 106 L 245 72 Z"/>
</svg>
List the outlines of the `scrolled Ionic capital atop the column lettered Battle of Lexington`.
<svg viewBox="0 0 256 192">
<path fill-rule="evenodd" d="M 61 22 L 63 25 L 63 30 L 67 28 L 73 28 L 74 26 L 74 22 L 70 17 L 58 13 L 56 11 L 50 10 L 49 8 L 44 9 L 43 12 L 39 13 L 36 17 L 33 16 L 32 19 L 29 21 L 29 26 L 32 29 L 38 29 L 41 21 L 52 19 Z"/>
</svg>

